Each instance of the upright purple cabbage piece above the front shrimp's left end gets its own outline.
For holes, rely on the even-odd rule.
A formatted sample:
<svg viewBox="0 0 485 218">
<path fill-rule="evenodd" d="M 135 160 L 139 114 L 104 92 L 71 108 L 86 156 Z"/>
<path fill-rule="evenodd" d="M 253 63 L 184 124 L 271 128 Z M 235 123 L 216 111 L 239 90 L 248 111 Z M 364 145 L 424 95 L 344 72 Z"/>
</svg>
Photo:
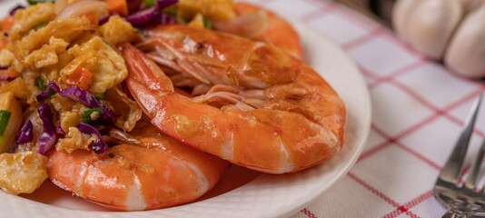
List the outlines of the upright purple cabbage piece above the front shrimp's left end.
<svg viewBox="0 0 485 218">
<path fill-rule="evenodd" d="M 49 104 L 41 104 L 37 108 L 39 117 L 44 124 L 44 130 L 42 134 L 37 139 L 39 144 L 39 154 L 45 154 L 54 148 L 57 143 L 57 134 L 55 134 L 55 127 L 53 123 L 53 114 L 51 112 L 51 106 Z"/>
</svg>

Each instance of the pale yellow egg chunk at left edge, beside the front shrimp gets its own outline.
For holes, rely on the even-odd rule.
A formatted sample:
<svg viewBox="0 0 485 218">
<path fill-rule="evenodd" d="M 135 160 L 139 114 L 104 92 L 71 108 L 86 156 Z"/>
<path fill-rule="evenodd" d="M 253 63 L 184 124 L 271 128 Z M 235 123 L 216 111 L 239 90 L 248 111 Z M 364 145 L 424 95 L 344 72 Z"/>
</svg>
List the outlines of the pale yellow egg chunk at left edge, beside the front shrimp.
<svg viewBox="0 0 485 218">
<path fill-rule="evenodd" d="M 47 157 L 35 152 L 0 154 L 0 188 L 6 193 L 33 193 L 45 179 Z"/>
</svg>

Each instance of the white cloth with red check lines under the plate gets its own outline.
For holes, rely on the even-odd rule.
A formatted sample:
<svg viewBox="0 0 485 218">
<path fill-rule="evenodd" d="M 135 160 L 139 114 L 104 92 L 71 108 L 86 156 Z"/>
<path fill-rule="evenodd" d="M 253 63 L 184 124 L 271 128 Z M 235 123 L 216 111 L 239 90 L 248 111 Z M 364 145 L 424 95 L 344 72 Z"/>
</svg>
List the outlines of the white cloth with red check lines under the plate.
<svg viewBox="0 0 485 218">
<path fill-rule="evenodd" d="M 300 18 L 340 44 L 371 92 L 371 134 L 361 157 L 291 217 L 440 217 L 445 208 L 433 198 L 432 187 L 484 85 L 426 59 L 389 29 L 332 1 L 259 3 Z M 485 115 L 477 123 L 469 155 L 480 147 Z"/>
</svg>

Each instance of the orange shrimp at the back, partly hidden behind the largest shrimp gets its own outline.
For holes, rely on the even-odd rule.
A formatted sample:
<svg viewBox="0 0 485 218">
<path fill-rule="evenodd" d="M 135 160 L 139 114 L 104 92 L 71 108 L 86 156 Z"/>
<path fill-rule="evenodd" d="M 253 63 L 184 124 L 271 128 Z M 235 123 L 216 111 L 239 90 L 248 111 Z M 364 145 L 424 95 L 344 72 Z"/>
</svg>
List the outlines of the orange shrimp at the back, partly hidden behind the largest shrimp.
<svg viewBox="0 0 485 218">
<path fill-rule="evenodd" d="M 291 54 L 303 57 L 300 38 L 292 25 L 284 19 L 271 11 L 248 3 L 237 2 L 233 8 L 237 16 L 229 21 L 214 22 L 217 30 L 272 43 Z"/>
</svg>

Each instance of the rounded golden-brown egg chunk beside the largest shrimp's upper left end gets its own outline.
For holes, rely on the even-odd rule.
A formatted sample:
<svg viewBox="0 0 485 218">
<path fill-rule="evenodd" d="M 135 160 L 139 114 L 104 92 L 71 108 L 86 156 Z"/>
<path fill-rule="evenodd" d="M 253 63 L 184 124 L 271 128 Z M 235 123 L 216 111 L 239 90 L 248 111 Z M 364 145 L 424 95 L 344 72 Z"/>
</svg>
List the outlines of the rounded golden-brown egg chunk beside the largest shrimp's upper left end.
<svg viewBox="0 0 485 218">
<path fill-rule="evenodd" d="M 111 45 L 121 42 L 132 43 L 138 35 L 133 25 L 119 15 L 111 16 L 108 22 L 99 28 L 99 32 Z"/>
</svg>

